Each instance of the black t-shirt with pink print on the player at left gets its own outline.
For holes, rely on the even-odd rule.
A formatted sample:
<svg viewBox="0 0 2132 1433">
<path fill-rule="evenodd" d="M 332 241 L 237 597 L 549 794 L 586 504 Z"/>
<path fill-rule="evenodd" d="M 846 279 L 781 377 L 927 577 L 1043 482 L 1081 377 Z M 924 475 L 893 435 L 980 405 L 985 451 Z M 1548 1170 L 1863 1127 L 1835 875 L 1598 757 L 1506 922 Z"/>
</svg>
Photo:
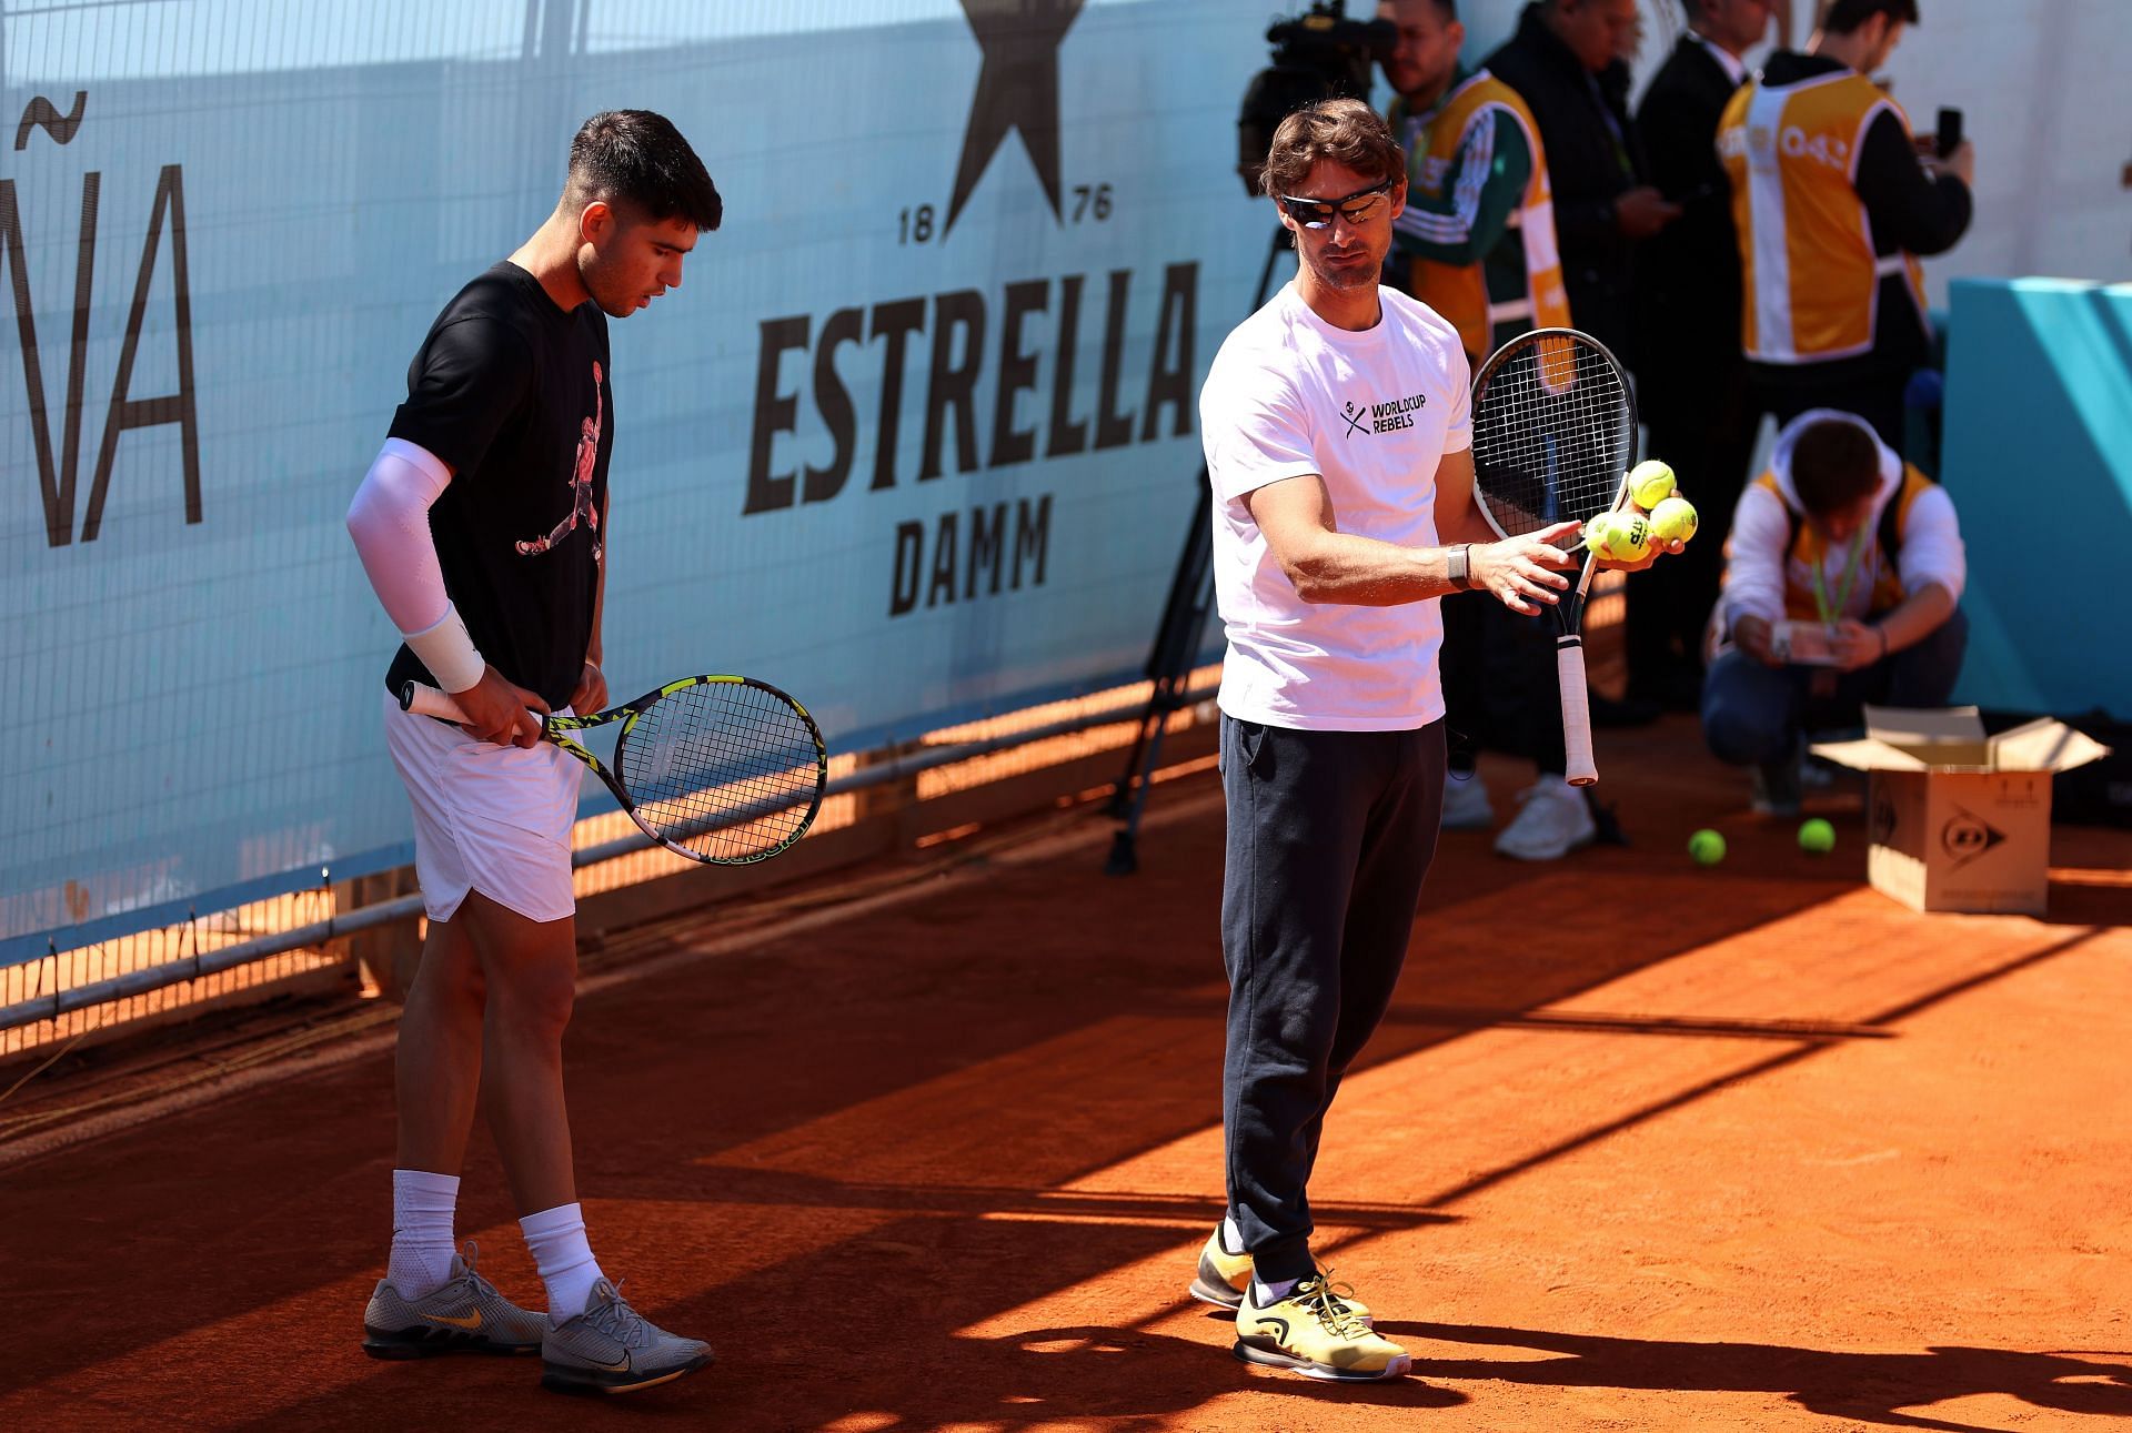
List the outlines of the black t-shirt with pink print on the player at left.
<svg viewBox="0 0 2132 1433">
<path fill-rule="evenodd" d="M 608 316 L 565 313 L 524 269 L 467 284 L 422 339 L 392 437 L 452 465 L 429 510 L 443 589 L 482 657 L 563 706 L 582 676 L 599 591 L 614 386 Z M 386 685 L 433 682 L 401 646 Z"/>
</svg>

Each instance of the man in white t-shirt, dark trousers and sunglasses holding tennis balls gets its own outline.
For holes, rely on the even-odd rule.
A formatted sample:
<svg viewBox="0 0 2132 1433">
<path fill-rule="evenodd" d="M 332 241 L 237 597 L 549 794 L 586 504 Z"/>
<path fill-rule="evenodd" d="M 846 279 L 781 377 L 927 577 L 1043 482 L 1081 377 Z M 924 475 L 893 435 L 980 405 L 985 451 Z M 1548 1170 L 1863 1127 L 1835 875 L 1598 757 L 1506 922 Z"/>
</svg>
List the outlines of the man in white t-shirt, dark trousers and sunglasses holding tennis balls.
<svg viewBox="0 0 2132 1433">
<path fill-rule="evenodd" d="M 1326 1286 L 1305 1186 L 1341 1075 L 1392 998 L 1435 853 L 1437 599 L 1484 589 L 1539 612 L 1569 584 L 1552 544 L 1578 531 L 1492 542 L 1473 508 L 1458 333 L 1377 284 L 1405 173 L 1358 100 L 1281 124 L 1262 183 L 1296 279 L 1228 337 L 1200 392 L 1228 629 L 1230 1004 L 1228 1215 L 1192 1292 L 1237 1307 L 1239 1358 L 1315 1378 L 1409 1365 Z"/>
</svg>

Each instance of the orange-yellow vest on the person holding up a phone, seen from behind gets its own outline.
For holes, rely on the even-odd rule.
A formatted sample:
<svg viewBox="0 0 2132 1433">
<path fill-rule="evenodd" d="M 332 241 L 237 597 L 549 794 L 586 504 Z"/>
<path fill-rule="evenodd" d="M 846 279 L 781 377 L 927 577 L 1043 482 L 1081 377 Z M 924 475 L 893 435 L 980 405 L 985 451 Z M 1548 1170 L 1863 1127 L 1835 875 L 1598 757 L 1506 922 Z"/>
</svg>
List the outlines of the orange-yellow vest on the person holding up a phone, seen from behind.
<svg viewBox="0 0 2132 1433">
<path fill-rule="evenodd" d="M 1851 188 L 1866 128 L 1902 107 L 1863 75 L 1742 85 L 1718 124 L 1740 232 L 1742 339 L 1759 363 L 1823 363 L 1872 348 L 1880 277 L 1904 275 L 1925 322 L 1925 275 L 1908 254 L 1872 252 Z M 1929 333 L 1929 326 L 1927 326 Z"/>
</svg>

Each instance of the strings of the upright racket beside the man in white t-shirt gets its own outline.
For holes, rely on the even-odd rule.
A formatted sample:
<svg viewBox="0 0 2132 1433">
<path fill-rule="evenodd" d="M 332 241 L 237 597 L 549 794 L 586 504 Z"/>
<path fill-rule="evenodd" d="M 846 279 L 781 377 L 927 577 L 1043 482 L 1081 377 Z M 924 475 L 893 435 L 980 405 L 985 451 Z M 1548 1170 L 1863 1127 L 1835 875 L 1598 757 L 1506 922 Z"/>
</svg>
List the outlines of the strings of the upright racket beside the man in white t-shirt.
<svg viewBox="0 0 2132 1433">
<path fill-rule="evenodd" d="M 1533 337 L 1473 401 L 1473 482 L 1512 535 L 1614 505 L 1635 441 L 1620 369 L 1576 337 Z"/>
</svg>

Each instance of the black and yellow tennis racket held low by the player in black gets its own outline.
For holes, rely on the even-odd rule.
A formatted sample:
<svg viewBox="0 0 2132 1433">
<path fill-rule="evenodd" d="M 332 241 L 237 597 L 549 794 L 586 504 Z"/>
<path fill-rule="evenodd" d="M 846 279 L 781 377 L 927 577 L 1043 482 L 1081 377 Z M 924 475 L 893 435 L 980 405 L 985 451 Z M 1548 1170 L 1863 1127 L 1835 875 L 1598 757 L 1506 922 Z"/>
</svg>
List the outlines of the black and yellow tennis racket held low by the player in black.
<svg viewBox="0 0 2132 1433">
<path fill-rule="evenodd" d="M 401 687 L 401 708 L 467 719 L 448 693 L 422 682 Z M 612 766 L 569 736 L 614 723 Z M 750 676 L 687 676 L 597 716 L 542 716 L 539 734 L 593 768 L 637 830 L 706 866 L 791 851 L 829 785 L 814 719 Z"/>
</svg>

